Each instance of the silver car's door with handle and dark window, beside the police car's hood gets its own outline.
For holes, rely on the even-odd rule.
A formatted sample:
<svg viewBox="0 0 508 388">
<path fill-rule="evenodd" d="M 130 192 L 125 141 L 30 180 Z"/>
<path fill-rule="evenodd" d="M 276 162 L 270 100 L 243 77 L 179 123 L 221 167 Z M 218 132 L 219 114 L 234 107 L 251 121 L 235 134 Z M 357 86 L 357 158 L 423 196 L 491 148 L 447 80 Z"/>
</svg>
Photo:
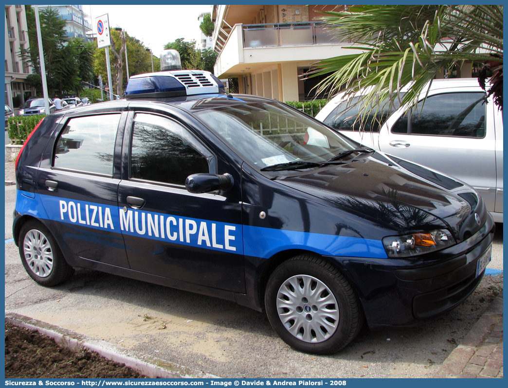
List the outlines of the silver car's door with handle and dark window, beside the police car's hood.
<svg viewBox="0 0 508 388">
<path fill-rule="evenodd" d="M 478 88 L 437 92 L 396 112 L 379 133 L 379 149 L 456 177 L 476 188 L 494 211 L 496 154 L 493 110 Z"/>
</svg>

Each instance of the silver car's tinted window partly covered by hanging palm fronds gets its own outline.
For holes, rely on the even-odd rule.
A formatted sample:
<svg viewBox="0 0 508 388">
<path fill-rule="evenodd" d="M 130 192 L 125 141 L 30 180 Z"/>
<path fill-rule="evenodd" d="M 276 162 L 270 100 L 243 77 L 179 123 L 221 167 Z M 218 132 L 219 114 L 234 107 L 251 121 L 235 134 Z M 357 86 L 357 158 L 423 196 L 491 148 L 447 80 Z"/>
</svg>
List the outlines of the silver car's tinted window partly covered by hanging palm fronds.
<svg viewBox="0 0 508 388">
<path fill-rule="evenodd" d="M 400 93 L 402 99 L 404 93 Z M 379 128 L 383 123 L 395 112 L 400 106 L 399 99 L 395 99 L 392 104 L 383 101 L 379 104 L 383 109 L 379 112 L 372 112 L 365 120 L 365 123 L 360 125 L 360 122 L 355 122 L 358 111 L 361 108 L 361 103 L 358 104 L 360 97 L 353 97 L 352 99 L 340 103 L 337 107 L 327 116 L 323 121 L 326 125 L 332 127 L 336 131 L 365 131 L 365 132 L 379 132 Z"/>
</svg>

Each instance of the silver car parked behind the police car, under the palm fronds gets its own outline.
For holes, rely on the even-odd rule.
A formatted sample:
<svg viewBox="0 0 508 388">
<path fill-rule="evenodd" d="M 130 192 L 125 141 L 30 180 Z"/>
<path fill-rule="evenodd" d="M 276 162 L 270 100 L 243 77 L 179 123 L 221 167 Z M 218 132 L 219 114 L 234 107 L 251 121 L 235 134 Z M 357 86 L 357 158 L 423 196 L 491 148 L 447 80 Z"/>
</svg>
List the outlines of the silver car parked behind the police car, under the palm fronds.
<svg viewBox="0 0 508 388">
<path fill-rule="evenodd" d="M 425 93 L 423 93 L 425 94 Z M 423 94 L 422 98 L 423 99 Z M 353 101 L 358 96 L 353 97 Z M 351 139 L 454 176 L 477 190 L 496 222 L 503 221 L 503 121 L 492 98 L 477 79 L 434 80 L 425 104 L 408 109 L 387 108 L 382 125 L 353 122 L 343 94 L 330 101 L 316 118 Z M 397 103 L 397 101 L 396 101 Z"/>
</svg>

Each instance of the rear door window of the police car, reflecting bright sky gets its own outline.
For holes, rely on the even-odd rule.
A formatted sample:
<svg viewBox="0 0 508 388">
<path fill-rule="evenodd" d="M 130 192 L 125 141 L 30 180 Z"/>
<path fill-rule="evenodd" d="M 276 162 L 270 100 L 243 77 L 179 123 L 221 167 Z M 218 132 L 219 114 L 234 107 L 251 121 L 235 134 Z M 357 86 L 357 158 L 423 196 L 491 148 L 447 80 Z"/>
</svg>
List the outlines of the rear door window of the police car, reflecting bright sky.
<svg viewBox="0 0 508 388">
<path fill-rule="evenodd" d="M 53 167 L 113 174 L 120 114 L 71 118 L 56 141 Z"/>
</svg>

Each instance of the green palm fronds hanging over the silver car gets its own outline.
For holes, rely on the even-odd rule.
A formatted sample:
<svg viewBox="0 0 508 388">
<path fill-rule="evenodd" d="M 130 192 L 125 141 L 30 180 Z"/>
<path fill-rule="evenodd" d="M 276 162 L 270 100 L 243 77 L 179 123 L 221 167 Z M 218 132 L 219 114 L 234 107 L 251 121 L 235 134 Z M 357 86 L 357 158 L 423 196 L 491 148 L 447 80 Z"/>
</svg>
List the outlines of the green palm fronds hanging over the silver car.
<svg viewBox="0 0 508 388">
<path fill-rule="evenodd" d="M 325 13 L 330 31 L 347 35 L 356 43 L 351 48 L 360 50 L 322 60 L 310 76 L 327 75 L 317 85 L 319 92 L 344 90 L 352 96 L 368 91 L 358 101 L 359 120 L 383 109 L 378 101 L 416 103 L 439 71 L 465 60 L 492 68 L 487 93 L 502 110 L 502 5 L 373 5 Z M 483 71 L 484 89 L 486 78 Z M 404 86 L 408 91 L 399 94 Z"/>
</svg>

